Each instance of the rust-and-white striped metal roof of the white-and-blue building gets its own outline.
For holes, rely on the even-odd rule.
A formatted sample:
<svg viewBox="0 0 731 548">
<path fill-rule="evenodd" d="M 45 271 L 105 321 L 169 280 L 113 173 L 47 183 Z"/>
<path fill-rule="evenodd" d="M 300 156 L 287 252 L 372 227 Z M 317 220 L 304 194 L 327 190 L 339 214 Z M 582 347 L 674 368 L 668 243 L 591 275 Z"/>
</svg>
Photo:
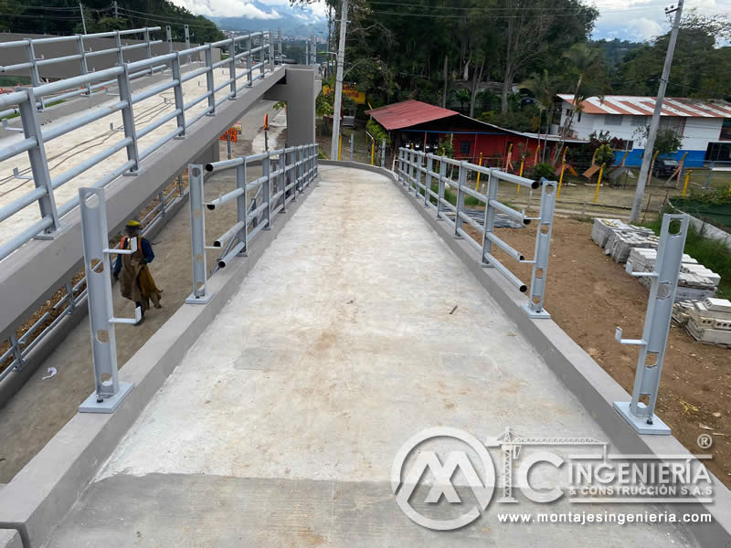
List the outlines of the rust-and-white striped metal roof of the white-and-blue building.
<svg viewBox="0 0 731 548">
<path fill-rule="evenodd" d="M 558 95 L 574 104 L 574 96 Z M 605 95 L 604 98 L 589 97 L 582 102 L 587 114 L 632 114 L 652 116 L 655 109 L 654 97 L 635 97 L 627 95 Z M 731 118 L 731 104 L 724 100 L 697 100 L 666 97 L 662 101 L 662 116 L 682 116 L 685 118 Z"/>
</svg>

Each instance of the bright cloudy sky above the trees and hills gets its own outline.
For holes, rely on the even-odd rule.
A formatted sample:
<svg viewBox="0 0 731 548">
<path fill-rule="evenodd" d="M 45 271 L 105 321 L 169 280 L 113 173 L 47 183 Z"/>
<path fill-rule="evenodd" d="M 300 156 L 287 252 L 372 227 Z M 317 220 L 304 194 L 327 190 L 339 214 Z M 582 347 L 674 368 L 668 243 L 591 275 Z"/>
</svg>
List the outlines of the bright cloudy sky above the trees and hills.
<svg viewBox="0 0 731 548">
<path fill-rule="evenodd" d="M 255 19 L 276 19 L 288 11 L 290 0 L 173 0 L 196 15 L 246 16 Z M 594 38 L 620 38 L 641 42 L 667 32 L 670 28 L 665 7 L 676 5 L 677 0 L 587 0 L 599 8 L 599 20 Z M 705 15 L 731 15 L 731 0 L 686 0 L 683 11 L 696 8 Z M 303 11 L 295 12 L 303 21 L 313 23 L 326 16 L 323 2 L 317 2 Z"/>
</svg>

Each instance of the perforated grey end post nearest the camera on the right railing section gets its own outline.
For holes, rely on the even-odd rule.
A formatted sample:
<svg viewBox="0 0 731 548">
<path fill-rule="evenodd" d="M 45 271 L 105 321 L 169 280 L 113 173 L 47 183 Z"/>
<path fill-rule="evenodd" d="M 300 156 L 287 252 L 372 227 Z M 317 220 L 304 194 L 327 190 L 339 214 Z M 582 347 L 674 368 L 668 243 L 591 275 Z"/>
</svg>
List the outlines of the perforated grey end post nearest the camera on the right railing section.
<svg viewBox="0 0 731 548">
<path fill-rule="evenodd" d="M 546 292 L 546 269 L 548 268 L 548 253 L 551 246 L 551 230 L 556 208 L 556 181 L 541 179 L 541 209 L 538 220 L 538 230 L 535 234 L 535 256 L 533 272 L 531 274 L 531 290 L 528 294 L 528 305 L 525 311 L 531 318 L 550 318 L 550 314 L 543 308 Z M 680 266 L 678 267 L 680 268 Z"/>
</svg>

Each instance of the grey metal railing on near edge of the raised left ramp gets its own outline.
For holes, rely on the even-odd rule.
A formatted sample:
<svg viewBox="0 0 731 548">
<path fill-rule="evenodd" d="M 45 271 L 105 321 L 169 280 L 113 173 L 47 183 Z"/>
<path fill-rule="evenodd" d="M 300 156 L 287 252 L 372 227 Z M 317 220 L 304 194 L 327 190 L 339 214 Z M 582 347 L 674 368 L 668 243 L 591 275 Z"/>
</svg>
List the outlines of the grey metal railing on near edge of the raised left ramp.
<svg viewBox="0 0 731 548">
<path fill-rule="evenodd" d="M 40 38 L 53 39 L 53 38 Z M 245 48 L 242 46 L 245 45 Z M 228 49 L 228 58 L 213 62 L 212 49 L 223 47 Z M 240 51 L 239 51 L 240 49 Z M 205 66 L 183 73 L 181 64 L 184 58 L 203 53 Z M 120 52 L 122 55 L 122 52 Z M 16 215 L 26 207 L 37 203 L 40 208 L 40 220 L 26 227 L 10 240 L 0 246 L 0 260 L 25 244 L 34 237 L 53 237 L 61 227 L 60 218 L 71 209 L 79 205 L 79 196 L 75 196 L 63 205 L 57 205 L 54 190 L 68 183 L 71 179 L 89 170 L 91 167 L 105 162 L 113 154 L 126 151 L 126 162 L 115 165 L 109 174 L 101 176 L 91 186 L 103 188 L 122 174 L 138 174 L 141 163 L 165 143 L 173 139 L 184 138 L 187 129 L 200 121 L 204 116 L 214 116 L 217 108 L 226 100 L 234 100 L 238 93 L 253 85 L 255 79 L 264 78 L 268 68 L 273 67 L 274 42 L 272 32 L 259 32 L 247 36 L 228 38 L 212 44 L 191 47 L 183 51 L 175 51 L 165 55 L 134 61 L 122 62 L 119 66 L 107 68 L 81 76 L 62 79 L 56 82 L 41 84 L 31 88 L 16 90 L 12 93 L 0 95 L 0 110 L 16 105 L 11 111 L 18 111 L 22 122 L 24 139 L 13 142 L 0 143 L 0 162 L 27 153 L 30 160 L 35 189 L 26 195 L 16 198 L 10 204 L 0 207 L 0 222 Z M 67 59 L 68 60 L 68 59 Z M 246 61 L 244 70 L 237 70 L 237 65 Z M 135 77 L 150 74 L 157 70 L 171 69 L 172 79 L 153 87 L 132 93 L 130 81 Z M 228 79 L 215 85 L 214 70 L 228 67 Z M 199 76 L 206 76 L 206 91 L 193 100 L 184 102 L 183 84 Z M 239 80 L 244 79 L 239 85 Z M 112 104 L 100 105 L 96 108 L 79 113 L 79 116 L 69 121 L 49 123 L 41 127 L 37 116 L 39 100 L 66 90 L 69 93 L 56 95 L 59 97 L 76 95 L 79 89 L 97 90 L 115 83 L 119 91 L 119 100 Z M 137 127 L 134 119 L 134 105 L 165 90 L 173 90 L 175 95 L 175 110 L 168 112 L 161 118 L 144 127 Z M 69 95 L 70 94 L 70 95 Z M 196 113 L 192 119 L 186 118 L 186 112 L 198 103 L 206 100 L 207 106 L 203 111 Z M 101 120 L 115 112 L 122 114 L 124 138 L 99 153 L 91 155 L 84 162 L 79 163 L 63 174 L 51 177 L 46 158 L 46 143 L 57 139 L 69 132 L 74 132 L 85 125 Z M 2 115 L 2 113 L 0 113 Z M 175 129 L 166 133 L 156 142 L 140 150 L 138 142 L 145 135 L 154 132 L 168 121 L 175 121 Z M 141 125 L 141 124 L 139 124 Z M 7 141 L 7 140 L 6 140 Z"/>
</svg>

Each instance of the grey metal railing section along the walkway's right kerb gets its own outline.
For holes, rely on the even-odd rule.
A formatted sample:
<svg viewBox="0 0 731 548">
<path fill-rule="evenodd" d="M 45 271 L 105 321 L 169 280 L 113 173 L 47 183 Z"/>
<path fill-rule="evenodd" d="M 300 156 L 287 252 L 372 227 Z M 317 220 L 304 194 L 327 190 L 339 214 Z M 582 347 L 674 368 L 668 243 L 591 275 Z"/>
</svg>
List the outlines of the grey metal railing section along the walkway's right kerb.
<svg viewBox="0 0 731 548">
<path fill-rule="evenodd" d="M 435 162 L 439 163 L 439 171 L 435 171 Z M 447 176 L 447 166 L 459 169 L 458 180 L 454 181 Z M 487 194 L 482 194 L 477 184 L 468 186 L 470 172 L 487 177 Z M 482 257 L 482 266 L 493 268 L 500 272 L 514 287 L 522 293 L 528 292 L 528 302 L 524 310 L 531 318 L 549 318 L 550 315 L 543 307 L 546 291 L 546 269 L 548 266 L 551 229 L 553 226 L 554 209 L 556 206 L 556 181 L 533 181 L 525 177 L 508 174 L 500 169 L 483 167 L 465 161 L 452 160 L 446 156 L 421 153 L 407 148 L 399 148 L 397 155 L 397 175 L 401 184 L 413 191 L 415 197 L 424 200 L 424 206 L 436 212 L 437 218 L 454 228 L 454 236 L 464 238 L 465 241 L 477 249 Z M 526 216 L 509 205 L 498 200 L 498 188 L 501 183 L 518 184 L 530 189 L 541 188 L 541 204 L 538 216 Z M 438 184 L 438 192 L 431 188 Z M 448 188 L 457 193 L 455 204 L 446 198 Z M 482 224 L 469 216 L 464 207 L 465 196 L 471 196 L 484 204 Z M 522 253 L 514 249 L 501 237 L 495 235 L 495 214 L 500 212 L 514 220 L 530 224 L 537 221 L 538 229 L 535 236 L 535 251 L 532 259 L 526 259 Z M 482 236 L 482 242 L 473 239 L 463 228 L 467 223 Z M 530 289 L 514 273 L 505 267 L 502 262 L 493 256 L 493 246 L 516 262 L 532 265 Z"/>
</svg>

